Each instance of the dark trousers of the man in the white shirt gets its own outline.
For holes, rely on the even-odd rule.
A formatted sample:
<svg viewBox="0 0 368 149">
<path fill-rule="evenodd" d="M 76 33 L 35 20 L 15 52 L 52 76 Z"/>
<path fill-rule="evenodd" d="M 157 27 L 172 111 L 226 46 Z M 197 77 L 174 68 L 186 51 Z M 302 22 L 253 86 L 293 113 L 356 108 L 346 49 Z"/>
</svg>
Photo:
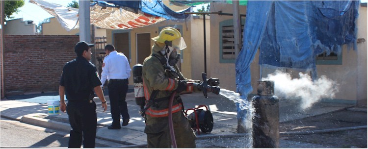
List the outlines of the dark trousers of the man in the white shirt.
<svg viewBox="0 0 368 149">
<path fill-rule="evenodd" d="M 130 119 L 127 102 L 125 101 L 128 92 L 128 79 L 110 79 L 107 87 L 108 97 L 110 99 L 111 125 L 120 127 L 120 114 L 123 120 Z"/>
</svg>

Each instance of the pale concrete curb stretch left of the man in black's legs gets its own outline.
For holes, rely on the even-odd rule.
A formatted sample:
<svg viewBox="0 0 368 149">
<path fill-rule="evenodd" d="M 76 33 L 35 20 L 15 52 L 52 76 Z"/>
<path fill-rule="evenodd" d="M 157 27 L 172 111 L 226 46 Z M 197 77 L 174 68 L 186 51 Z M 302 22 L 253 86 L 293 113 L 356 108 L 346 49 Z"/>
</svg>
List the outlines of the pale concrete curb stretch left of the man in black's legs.
<svg viewBox="0 0 368 149">
<path fill-rule="evenodd" d="M 37 125 L 37 126 L 41 126 L 45 128 L 50 128 L 54 130 L 59 130 L 63 132 L 70 132 L 70 130 L 72 129 L 72 127 L 70 127 L 70 125 L 66 123 L 61 123 L 61 122 L 56 122 L 52 120 L 31 117 L 31 116 L 22 117 L 20 122 L 26 123 L 26 124 Z"/>
</svg>

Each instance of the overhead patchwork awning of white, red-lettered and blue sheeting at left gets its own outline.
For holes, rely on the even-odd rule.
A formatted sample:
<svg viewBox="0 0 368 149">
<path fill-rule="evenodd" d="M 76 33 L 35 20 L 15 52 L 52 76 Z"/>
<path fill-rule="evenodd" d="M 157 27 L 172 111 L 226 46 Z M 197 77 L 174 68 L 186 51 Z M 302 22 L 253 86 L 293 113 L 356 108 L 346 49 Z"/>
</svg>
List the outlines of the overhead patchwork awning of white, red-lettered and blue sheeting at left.
<svg viewBox="0 0 368 149">
<path fill-rule="evenodd" d="M 144 4 L 144 2 L 147 1 L 148 0 L 139 0 L 139 2 L 143 3 L 141 5 L 143 5 L 144 8 L 136 9 L 135 11 L 131 11 L 131 9 L 126 10 L 123 9 L 124 7 L 122 8 L 120 6 L 106 6 L 106 3 L 104 6 L 104 3 L 101 2 L 92 3 L 90 6 L 90 23 L 97 27 L 107 29 L 131 29 L 156 24 L 166 19 L 184 19 L 188 16 L 184 15 L 184 11 L 190 10 L 190 8 L 188 8 L 181 12 L 174 12 L 164 6 L 161 1 Z M 29 0 L 29 2 L 40 6 L 53 15 L 66 30 L 70 31 L 74 28 L 79 28 L 79 9 L 65 7 L 43 0 Z M 151 4 L 155 5 L 151 6 Z"/>
</svg>

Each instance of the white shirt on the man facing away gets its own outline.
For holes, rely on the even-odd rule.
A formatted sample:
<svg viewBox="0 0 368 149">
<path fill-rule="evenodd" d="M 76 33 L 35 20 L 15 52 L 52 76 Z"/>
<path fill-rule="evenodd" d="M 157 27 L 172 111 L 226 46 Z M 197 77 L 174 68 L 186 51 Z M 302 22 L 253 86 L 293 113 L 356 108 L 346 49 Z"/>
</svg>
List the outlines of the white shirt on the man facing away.
<svg viewBox="0 0 368 149">
<path fill-rule="evenodd" d="M 131 66 L 127 56 L 116 50 L 110 52 L 102 65 L 102 85 L 105 84 L 106 79 L 126 79 L 129 77 L 131 77 Z"/>
</svg>

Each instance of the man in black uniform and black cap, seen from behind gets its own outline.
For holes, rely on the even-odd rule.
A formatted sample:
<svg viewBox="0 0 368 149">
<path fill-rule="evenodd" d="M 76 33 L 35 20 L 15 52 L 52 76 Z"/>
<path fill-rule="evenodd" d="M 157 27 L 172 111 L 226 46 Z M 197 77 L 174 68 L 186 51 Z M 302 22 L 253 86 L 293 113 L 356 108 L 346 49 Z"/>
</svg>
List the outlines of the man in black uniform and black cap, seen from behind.
<svg viewBox="0 0 368 149">
<path fill-rule="evenodd" d="M 93 91 L 100 98 L 104 112 L 107 109 L 96 67 L 89 62 L 93 46 L 84 41 L 78 42 L 74 48 L 77 58 L 64 65 L 60 78 L 60 110 L 67 112 L 72 127 L 68 148 L 80 148 L 82 140 L 84 148 L 95 147 L 97 114 Z M 64 94 L 68 105 L 64 101 Z"/>
</svg>

